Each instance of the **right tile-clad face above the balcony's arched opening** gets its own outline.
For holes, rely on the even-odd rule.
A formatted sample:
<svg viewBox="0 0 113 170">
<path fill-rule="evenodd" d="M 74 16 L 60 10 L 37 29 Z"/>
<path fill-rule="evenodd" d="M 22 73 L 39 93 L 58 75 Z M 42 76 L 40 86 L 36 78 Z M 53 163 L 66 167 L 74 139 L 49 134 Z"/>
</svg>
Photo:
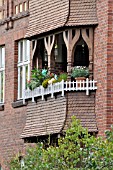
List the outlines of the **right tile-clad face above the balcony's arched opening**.
<svg viewBox="0 0 113 170">
<path fill-rule="evenodd" d="M 96 0 L 70 0 L 70 13 L 66 26 L 97 24 Z"/>
</svg>

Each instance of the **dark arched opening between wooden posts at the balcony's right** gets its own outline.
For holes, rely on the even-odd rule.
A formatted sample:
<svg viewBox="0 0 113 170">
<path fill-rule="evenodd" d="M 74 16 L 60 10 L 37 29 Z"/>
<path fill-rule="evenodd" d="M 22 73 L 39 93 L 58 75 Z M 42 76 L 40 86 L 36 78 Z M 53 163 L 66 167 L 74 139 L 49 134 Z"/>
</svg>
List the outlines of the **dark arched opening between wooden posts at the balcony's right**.
<svg viewBox="0 0 113 170">
<path fill-rule="evenodd" d="M 80 36 L 75 46 L 74 66 L 89 66 L 89 49 L 82 36 Z"/>
</svg>

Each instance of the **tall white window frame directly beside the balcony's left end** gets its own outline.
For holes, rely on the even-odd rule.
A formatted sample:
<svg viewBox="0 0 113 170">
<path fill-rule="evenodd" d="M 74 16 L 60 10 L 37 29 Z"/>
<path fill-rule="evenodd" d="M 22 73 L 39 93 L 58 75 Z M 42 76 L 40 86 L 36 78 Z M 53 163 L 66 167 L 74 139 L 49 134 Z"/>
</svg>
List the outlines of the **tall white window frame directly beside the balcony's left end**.
<svg viewBox="0 0 113 170">
<path fill-rule="evenodd" d="M 23 58 L 21 59 L 21 43 L 23 43 Z M 25 50 L 25 48 L 27 49 Z M 26 51 L 26 54 L 25 54 Z M 23 92 L 26 89 L 26 66 L 28 67 L 27 80 L 30 80 L 30 41 L 23 39 L 18 42 L 18 100 L 23 99 Z M 22 94 L 21 94 L 21 80 L 20 80 L 20 69 L 22 68 Z"/>
</svg>

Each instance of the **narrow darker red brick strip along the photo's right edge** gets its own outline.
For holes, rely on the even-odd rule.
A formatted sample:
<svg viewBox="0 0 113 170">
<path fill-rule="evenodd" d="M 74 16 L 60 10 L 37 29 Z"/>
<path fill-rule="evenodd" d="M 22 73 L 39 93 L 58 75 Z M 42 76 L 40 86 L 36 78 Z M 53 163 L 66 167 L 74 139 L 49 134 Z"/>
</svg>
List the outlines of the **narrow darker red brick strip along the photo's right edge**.
<svg viewBox="0 0 113 170">
<path fill-rule="evenodd" d="M 107 128 L 113 124 L 113 1 L 108 1 Z"/>
</svg>

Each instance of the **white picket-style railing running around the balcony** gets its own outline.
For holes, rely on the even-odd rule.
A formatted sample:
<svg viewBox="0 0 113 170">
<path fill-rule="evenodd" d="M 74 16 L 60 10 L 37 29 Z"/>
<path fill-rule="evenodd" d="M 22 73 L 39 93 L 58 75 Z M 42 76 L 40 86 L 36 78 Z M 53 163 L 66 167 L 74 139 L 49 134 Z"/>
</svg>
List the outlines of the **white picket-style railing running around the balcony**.
<svg viewBox="0 0 113 170">
<path fill-rule="evenodd" d="M 44 95 L 51 94 L 51 98 L 53 98 L 54 93 L 61 92 L 61 96 L 64 96 L 65 91 L 86 91 L 86 95 L 89 95 L 90 90 L 96 90 L 96 81 L 89 80 L 78 80 L 78 81 L 66 81 L 62 80 L 61 82 L 50 84 L 47 88 L 43 88 L 43 86 L 37 87 L 34 90 L 24 90 L 23 103 L 25 103 L 25 99 L 32 98 L 32 102 L 34 102 L 35 97 L 42 97 L 44 99 Z"/>
</svg>

